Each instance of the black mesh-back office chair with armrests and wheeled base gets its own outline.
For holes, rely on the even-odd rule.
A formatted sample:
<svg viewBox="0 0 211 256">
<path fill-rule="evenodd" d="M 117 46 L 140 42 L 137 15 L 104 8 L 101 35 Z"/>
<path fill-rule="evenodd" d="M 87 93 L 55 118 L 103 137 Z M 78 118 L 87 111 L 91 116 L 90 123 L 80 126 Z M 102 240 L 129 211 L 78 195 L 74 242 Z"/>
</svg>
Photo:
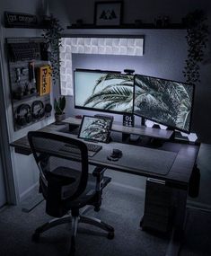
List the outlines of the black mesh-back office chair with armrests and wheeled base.
<svg viewBox="0 0 211 256">
<path fill-rule="evenodd" d="M 46 213 L 57 217 L 37 228 L 32 240 L 38 242 L 40 234 L 64 223 L 72 223 L 68 255 L 75 255 L 78 223 L 95 225 L 107 231 L 107 237 L 112 239 L 112 226 L 96 218 L 82 216 L 79 212 L 85 206 L 93 206 L 95 211 L 99 211 L 102 189 L 111 180 L 103 176 L 105 169 L 100 167 L 96 167 L 92 174 L 88 173 L 88 151 L 84 142 L 40 131 L 30 131 L 28 139 L 40 170 L 40 192 L 46 199 Z M 66 146 L 73 146 L 73 152 L 66 152 Z"/>
</svg>

